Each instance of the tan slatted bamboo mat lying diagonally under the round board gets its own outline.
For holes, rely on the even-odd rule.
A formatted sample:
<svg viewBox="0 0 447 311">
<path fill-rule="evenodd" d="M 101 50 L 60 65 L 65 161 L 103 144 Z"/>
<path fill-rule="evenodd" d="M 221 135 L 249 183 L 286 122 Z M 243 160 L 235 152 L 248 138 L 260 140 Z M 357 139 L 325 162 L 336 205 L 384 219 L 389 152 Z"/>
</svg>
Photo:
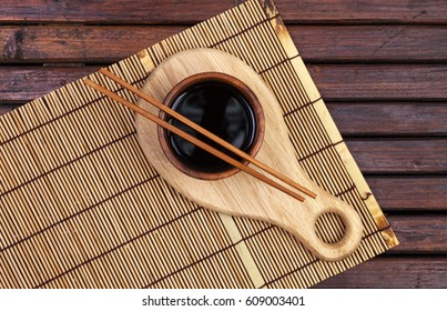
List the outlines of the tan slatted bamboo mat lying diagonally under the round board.
<svg viewBox="0 0 447 311">
<path fill-rule="evenodd" d="M 0 117 L 1 288 L 306 288 L 398 243 L 271 1 L 244 2 L 109 69 L 142 87 L 164 59 L 197 47 L 241 58 L 267 82 L 291 161 L 357 210 L 359 249 L 324 262 L 276 227 L 182 198 L 144 158 L 132 113 L 79 80 Z M 326 241 L 342 230 L 331 217 L 318 225 Z"/>
</svg>

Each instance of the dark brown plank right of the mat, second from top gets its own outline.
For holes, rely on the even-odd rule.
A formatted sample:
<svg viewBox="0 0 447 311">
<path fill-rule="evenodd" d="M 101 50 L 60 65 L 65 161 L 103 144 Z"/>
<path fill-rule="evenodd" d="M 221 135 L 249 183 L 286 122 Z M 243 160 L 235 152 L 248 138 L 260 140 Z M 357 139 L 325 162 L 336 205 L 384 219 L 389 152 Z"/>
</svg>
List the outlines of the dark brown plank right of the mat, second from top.
<svg viewBox="0 0 447 311">
<path fill-rule="evenodd" d="M 288 31 L 305 62 L 445 61 L 447 28 L 295 26 Z"/>
</svg>

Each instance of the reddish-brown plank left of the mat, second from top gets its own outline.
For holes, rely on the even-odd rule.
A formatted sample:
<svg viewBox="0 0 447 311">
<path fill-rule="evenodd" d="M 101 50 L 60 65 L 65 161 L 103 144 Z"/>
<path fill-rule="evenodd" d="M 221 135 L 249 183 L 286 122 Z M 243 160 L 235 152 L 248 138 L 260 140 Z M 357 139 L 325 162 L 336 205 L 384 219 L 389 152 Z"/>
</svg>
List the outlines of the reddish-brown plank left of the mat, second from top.
<svg viewBox="0 0 447 311">
<path fill-rule="evenodd" d="M 0 62 L 116 62 L 185 28 L 6 26 L 0 28 Z"/>
</svg>

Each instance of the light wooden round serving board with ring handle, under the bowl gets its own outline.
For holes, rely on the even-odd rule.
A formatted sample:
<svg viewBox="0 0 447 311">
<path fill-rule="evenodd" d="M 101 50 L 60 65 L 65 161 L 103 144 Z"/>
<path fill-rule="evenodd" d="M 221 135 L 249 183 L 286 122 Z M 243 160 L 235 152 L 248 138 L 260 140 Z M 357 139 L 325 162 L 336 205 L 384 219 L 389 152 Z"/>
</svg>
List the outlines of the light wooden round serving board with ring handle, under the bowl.
<svg viewBox="0 0 447 311">
<path fill-rule="evenodd" d="M 346 202 L 319 188 L 298 165 L 280 104 L 262 78 L 246 63 L 214 49 L 185 50 L 164 60 L 151 73 L 142 90 L 163 102 L 171 90 L 185 79 L 207 73 L 223 73 L 237 79 L 254 93 L 263 111 L 263 138 L 255 158 L 312 190 L 316 198 L 307 197 L 299 202 L 241 172 L 215 180 L 186 174 L 165 157 L 158 126 L 136 116 L 140 146 L 161 177 L 177 192 L 202 207 L 224 214 L 266 221 L 285 229 L 319 259 L 337 261 L 353 253 L 362 240 L 363 225 L 358 214 Z M 154 116 L 160 114 L 158 108 L 143 99 L 138 104 Z M 345 232 L 336 243 L 325 243 L 316 235 L 316 222 L 324 214 L 337 215 L 343 221 Z"/>
</svg>

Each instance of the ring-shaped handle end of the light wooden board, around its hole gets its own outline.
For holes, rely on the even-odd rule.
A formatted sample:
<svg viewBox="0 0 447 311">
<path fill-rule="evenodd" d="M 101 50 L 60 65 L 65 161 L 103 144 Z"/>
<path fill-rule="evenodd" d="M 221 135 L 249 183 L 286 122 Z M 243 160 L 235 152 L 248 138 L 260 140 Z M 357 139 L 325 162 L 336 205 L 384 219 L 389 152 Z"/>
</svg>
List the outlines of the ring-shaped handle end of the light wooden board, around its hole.
<svg viewBox="0 0 447 311">
<path fill-rule="evenodd" d="M 306 247 L 319 259 L 326 261 L 338 261 L 351 255 L 362 241 L 363 224 L 357 212 L 342 200 L 334 200 L 333 204 L 318 204 L 319 208 L 312 207 L 314 211 L 313 220 L 308 223 L 311 229 L 306 240 Z M 316 223 L 321 215 L 332 213 L 338 215 L 345 225 L 344 235 L 335 243 L 323 241 L 316 234 Z"/>
</svg>

